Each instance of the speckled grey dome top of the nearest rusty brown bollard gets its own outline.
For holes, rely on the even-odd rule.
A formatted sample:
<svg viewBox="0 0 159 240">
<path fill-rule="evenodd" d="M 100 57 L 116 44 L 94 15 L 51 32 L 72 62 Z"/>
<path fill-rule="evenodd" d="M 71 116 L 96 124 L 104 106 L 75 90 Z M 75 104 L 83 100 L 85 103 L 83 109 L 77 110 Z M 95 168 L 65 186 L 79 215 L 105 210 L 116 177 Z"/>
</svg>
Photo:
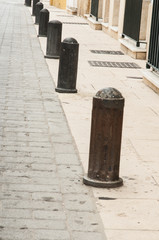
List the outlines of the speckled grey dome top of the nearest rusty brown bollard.
<svg viewBox="0 0 159 240">
<path fill-rule="evenodd" d="M 101 98 L 101 99 L 121 99 L 123 98 L 122 94 L 115 88 L 103 88 L 99 90 L 95 97 Z"/>
</svg>

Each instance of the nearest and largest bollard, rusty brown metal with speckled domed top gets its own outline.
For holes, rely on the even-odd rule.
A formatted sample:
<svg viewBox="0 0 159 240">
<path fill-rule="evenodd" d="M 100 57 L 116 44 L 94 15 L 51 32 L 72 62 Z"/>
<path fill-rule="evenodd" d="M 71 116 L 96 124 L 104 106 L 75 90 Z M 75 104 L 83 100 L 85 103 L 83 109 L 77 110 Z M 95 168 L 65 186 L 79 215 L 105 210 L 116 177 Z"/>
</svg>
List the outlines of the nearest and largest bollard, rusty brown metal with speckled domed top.
<svg viewBox="0 0 159 240">
<path fill-rule="evenodd" d="M 93 97 L 92 125 L 86 185 L 115 188 L 119 178 L 124 98 L 115 88 L 105 88 Z"/>
</svg>

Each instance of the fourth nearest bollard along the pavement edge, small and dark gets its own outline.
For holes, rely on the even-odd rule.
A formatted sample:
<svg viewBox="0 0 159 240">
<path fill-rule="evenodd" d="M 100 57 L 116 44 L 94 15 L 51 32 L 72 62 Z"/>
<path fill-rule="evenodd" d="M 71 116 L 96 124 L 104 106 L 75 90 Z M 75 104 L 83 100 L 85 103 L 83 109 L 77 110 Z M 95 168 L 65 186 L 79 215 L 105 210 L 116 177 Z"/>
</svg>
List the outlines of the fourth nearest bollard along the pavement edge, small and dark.
<svg viewBox="0 0 159 240">
<path fill-rule="evenodd" d="M 38 37 L 47 36 L 47 27 L 49 22 L 49 11 L 47 9 L 42 9 L 39 16 L 39 35 Z"/>
</svg>

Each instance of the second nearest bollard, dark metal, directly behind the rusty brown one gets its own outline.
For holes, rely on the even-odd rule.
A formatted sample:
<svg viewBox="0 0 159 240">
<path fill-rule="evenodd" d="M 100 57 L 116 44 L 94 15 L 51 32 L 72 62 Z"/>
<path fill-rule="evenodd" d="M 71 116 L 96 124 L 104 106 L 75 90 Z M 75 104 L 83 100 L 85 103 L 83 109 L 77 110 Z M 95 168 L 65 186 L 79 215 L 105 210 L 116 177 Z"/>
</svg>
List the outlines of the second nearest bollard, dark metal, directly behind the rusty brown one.
<svg viewBox="0 0 159 240">
<path fill-rule="evenodd" d="M 76 79 L 79 44 L 74 38 L 66 38 L 61 43 L 58 84 L 59 93 L 77 93 Z"/>
</svg>

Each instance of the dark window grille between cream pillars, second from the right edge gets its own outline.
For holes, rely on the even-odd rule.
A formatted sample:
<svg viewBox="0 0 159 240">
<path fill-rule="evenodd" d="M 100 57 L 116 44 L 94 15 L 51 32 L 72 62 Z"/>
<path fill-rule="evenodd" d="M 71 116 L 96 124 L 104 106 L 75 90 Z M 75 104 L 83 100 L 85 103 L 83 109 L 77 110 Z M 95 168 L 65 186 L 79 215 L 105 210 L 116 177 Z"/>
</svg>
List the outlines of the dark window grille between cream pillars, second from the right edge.
<svg viewBox="0 0 159 240">
<path fill-rule="evenodd" d="M 126 0 L 123 34 L 139 42 L 143 0 Z"/>
</svg>

